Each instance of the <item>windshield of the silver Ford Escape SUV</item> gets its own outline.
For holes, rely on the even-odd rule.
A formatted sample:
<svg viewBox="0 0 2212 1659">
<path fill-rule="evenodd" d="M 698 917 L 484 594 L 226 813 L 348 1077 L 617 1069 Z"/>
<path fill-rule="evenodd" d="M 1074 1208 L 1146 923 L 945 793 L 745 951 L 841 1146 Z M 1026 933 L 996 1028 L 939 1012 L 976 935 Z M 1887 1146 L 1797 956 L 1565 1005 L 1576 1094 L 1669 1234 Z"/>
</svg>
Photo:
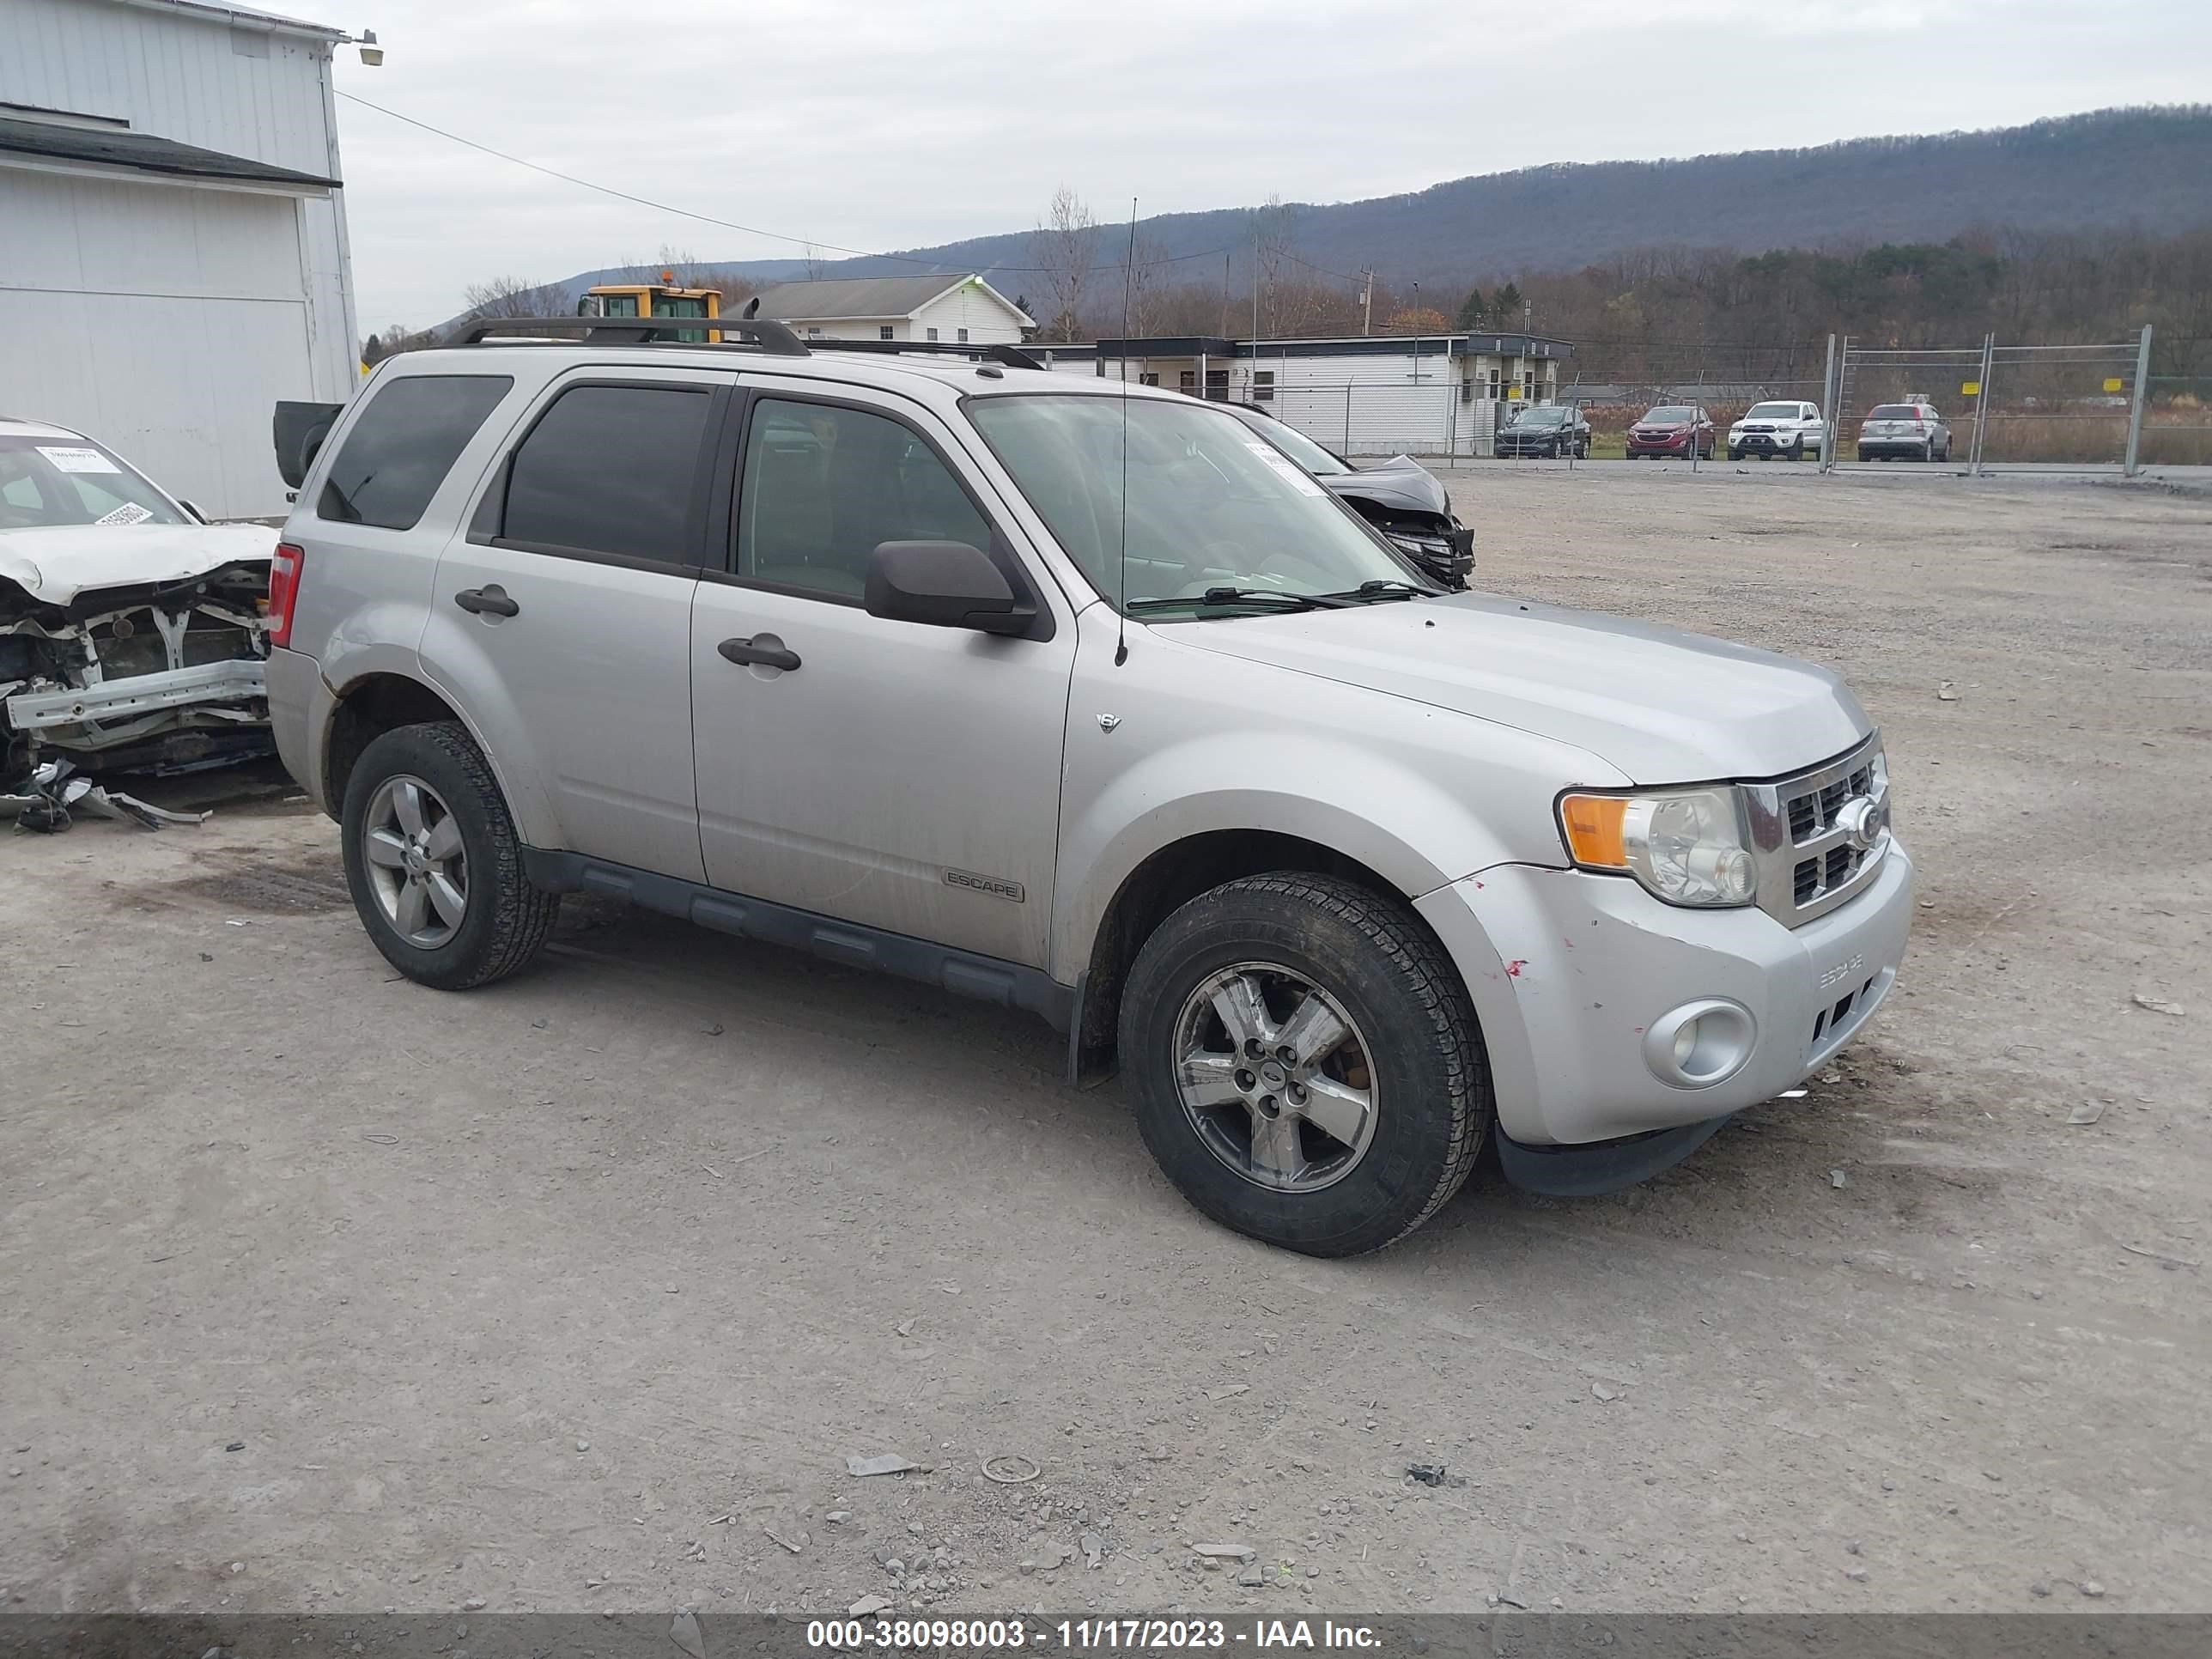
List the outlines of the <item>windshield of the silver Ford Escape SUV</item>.
<svg viewBox="0 0 2212 1659">
<path fill-rule="evenodd" d="M 1416 577 L 1281 449 L 1219 407 L 1040 392 L 973 398 L 969 416 L 1091 586 L 1124 611 L 1168 602 L 1159 608 L 1181 619 L 1177 608 L 1194 613 L 1210 588 L 1265 599 Z"/>
</svg>

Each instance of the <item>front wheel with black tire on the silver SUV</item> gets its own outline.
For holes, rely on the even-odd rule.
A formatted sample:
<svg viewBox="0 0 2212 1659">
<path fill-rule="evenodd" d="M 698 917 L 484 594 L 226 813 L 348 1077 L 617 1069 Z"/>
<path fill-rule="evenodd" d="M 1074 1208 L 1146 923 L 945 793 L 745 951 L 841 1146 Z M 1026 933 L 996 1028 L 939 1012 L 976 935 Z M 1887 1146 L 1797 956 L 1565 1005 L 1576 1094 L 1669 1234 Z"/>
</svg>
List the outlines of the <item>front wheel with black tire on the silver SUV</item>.
<svg viewBox="0 0 2212 1659">
<path fill-rule="evenodd" d="M 1239 1048 L 1208 991 L 1248 1006 L 1239 982 L 1261 991 L 1248 1029 L 1267 1042 L 1296 1035 L 1314 993 L 1329 1004 L 1321 1020 L 1345 1035 L 1285 1077 L 1281 1048 Z M 1460 1190 L 1491 1126 L 1489 1062 L 1442 947 L 1396 898 L 1334 876 L 1248 876 L 1175 911 L 1130 967 L 1119 1046 L 1137 1128 L 1181 1194 L 1225 1228 L 1310 1256 L 1409 1234 Z M 1217 1095 L 1203 1110 L 1186 1104 L 1186 1057 Z M 1254 1135 L 1263 1124 L 1274 1126 L 1270 1157 Z"/>
</svg>

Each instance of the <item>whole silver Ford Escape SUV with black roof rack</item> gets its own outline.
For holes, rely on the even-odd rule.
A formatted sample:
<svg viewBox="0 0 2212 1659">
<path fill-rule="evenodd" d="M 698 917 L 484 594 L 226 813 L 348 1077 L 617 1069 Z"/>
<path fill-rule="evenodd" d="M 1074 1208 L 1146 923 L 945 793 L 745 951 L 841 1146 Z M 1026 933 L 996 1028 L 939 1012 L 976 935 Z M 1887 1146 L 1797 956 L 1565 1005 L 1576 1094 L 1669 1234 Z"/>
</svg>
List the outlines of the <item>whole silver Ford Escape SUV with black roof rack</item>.
<svg viewBox="0 0 2212 1659">
<path fill-rule="evenodd" d="M 1029 1009 L 1312 1254 L 1486 1137 L 1641 1179 L 1889 993 L 1913 872 L 1832 672 L 1444 593 L 1172 392 L 633 327 L 279 420 L 276 741 L 409 978 L 593 891 Z"/>
</svg>

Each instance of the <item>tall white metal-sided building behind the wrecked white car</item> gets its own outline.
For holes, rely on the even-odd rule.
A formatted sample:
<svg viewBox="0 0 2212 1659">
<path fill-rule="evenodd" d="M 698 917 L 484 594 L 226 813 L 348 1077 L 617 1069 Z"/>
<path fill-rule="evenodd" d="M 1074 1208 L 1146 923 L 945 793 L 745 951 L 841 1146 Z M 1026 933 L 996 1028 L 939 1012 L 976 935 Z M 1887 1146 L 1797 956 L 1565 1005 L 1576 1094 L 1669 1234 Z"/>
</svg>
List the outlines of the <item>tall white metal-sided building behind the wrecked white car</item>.
<svg viewBox="0 0 2212 1659">
<path fill-rule="evenodd" d="M 88 431 L 219 518 L 285 511 L 276 398 L 358 380 L 323 24 L 0 2 L 0 414 Z"/>
</svg>

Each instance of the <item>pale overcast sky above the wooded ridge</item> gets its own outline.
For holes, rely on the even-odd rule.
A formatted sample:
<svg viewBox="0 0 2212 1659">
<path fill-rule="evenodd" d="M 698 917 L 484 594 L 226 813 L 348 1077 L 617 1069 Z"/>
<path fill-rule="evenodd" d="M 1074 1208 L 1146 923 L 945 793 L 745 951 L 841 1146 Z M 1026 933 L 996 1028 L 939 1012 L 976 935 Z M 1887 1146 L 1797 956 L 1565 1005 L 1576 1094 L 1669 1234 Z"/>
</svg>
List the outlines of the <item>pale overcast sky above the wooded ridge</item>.
<svg viewBox="0 0 2212 1659">
<path fill-rule="evenodd" d="M 1827 144 L 2208 97 L 2212 0 L 265 0 L 374 29 L 338 88 L 816 243 L 1349 201 L 1540 161 Z M 686 33 L 690 38 L 686 38 Z M 611 201 L 338 100 L 363 330 L 473 281 L 794 241 Z M 1387 272 L 1385 272 L 1387 274 Z"/>
</svg>

